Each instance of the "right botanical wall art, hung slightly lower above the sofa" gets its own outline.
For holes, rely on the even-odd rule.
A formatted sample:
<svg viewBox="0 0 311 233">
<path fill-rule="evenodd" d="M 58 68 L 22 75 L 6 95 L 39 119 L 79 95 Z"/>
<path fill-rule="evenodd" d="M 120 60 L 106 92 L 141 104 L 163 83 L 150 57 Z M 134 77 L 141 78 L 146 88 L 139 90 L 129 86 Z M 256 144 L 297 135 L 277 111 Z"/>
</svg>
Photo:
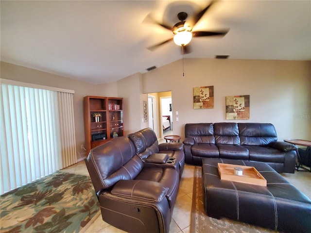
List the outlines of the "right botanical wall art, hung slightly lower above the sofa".
<svg viewBox="0 0 311 233">
<path fill-rule="evenodd" d="M 249 119 L 249 95 L 225 97 L 225 119 L 247 120 Z"/>
</svg>

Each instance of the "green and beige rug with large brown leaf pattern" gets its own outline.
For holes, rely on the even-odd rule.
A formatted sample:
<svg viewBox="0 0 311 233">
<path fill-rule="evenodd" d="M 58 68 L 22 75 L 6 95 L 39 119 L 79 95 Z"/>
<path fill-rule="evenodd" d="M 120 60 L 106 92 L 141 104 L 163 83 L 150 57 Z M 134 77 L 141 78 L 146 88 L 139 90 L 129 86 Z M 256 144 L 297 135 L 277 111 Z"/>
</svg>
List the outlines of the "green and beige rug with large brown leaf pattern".
<svg viewBox="0 0 311 233">
<path fill-rule="evenodd" d="M 78 233 L 99 212 L 90 178 L 61 171 L 0 199 L 1 233 Z"/>
</svg>

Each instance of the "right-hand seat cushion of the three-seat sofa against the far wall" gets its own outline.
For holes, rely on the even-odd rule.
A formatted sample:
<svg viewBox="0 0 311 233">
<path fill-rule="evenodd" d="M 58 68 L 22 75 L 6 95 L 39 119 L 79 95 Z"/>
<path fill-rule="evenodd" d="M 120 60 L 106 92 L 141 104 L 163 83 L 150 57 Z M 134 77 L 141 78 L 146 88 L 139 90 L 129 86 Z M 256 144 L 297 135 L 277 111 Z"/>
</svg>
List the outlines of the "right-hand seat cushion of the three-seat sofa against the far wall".
<svg viewBox="0 0 311 233">
<path fill-rule="evenodd" d="M 270 147 L 244 146 L 249 151 L 249 160 L 270 163 L 284 163 L 285 153 Z"/>
</svg>

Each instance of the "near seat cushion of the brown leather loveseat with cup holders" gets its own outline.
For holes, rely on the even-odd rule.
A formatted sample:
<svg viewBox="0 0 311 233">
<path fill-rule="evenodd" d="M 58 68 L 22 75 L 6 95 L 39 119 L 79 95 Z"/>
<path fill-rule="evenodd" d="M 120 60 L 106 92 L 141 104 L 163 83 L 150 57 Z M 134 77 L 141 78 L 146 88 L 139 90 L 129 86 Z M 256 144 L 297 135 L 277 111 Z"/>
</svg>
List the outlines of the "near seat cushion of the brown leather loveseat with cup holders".
<svg viewBox="0 0 311 233">
<path fill-rule="evenodd" d="M 178 170 L 171 167 L 144 167 L 135 180 L 153 181 L 168 188 L 166 198 L 170 208 L 174 206 L 179 184 Z"/>
</svg>

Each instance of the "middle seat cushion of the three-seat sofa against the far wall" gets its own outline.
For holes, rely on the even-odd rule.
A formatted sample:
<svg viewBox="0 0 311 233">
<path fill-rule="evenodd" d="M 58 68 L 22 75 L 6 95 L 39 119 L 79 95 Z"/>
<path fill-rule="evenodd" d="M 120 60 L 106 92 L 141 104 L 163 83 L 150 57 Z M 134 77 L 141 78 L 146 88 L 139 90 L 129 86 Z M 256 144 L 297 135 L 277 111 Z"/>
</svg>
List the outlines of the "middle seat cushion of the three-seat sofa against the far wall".
<svg viewBox="0 0 311 233">
<path fill-rule="evenodd" d="M 249 159 L 249 152 L 247 148 L 235 145 L 217 144 L 219 149 L 219 158 L 225 159 Z"/>
</svg>

